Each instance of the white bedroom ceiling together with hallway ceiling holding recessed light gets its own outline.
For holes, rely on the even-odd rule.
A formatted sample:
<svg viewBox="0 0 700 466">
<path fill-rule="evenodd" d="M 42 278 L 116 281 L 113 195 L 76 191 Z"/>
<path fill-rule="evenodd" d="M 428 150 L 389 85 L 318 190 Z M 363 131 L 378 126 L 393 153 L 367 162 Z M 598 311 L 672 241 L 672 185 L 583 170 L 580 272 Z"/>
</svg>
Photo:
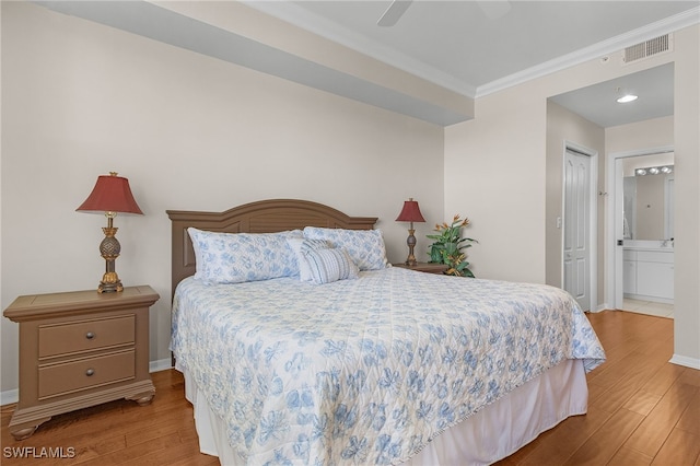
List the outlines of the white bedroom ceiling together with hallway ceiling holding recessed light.
<svg viewBox="0 0 700 466">
<path fill-rule="evenodd" d="M 411 1 L 394 26 L 392 1 L 256 2 L 269 14 L 465 95 L 478 97 L 666 34 L 700 20 L 700 1 Z M 500 11 L 499 11 L 500 10 Z M 572 21 L 575 19 L 575 21 Z M 678 28 L 674 25 L 674 28 Z M 630 42 L 631 40 L 631 42 Z M 640 98 L 621 105 L 620 90 Z M 555 100 L 600 127 L 673 115 L 673 67 Z"/>
</svg>

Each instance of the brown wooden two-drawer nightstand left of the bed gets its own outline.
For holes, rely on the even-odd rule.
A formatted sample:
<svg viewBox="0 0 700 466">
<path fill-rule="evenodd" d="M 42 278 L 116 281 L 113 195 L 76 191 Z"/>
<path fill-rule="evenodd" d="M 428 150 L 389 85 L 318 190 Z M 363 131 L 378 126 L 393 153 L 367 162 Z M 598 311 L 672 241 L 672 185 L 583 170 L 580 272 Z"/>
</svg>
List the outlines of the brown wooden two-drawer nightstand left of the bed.
<svg viewBox="0 0 700 466">
<path fill-rule="evenodd" d="M 112 401 L 148 405 L 151 287 L 20 296 L 4 316 L 20 324 L 20 400 L 10 421 L 26 439 L 52 416 Z"/>
</svg>

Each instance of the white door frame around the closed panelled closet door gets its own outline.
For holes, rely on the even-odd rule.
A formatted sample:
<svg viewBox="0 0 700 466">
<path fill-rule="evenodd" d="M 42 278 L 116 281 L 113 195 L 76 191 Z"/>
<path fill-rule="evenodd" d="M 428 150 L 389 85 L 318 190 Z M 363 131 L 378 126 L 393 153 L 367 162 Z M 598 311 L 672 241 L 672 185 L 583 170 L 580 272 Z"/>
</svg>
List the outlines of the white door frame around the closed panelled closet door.
<svg viewBox="0 0 700 466">
<path fill-rule="evenodd" d="M 561 273 L 560 283 L 564 288 L 564 231 L 565 231 L 565 210 L 567 210 L 567 151 L 573 151 L 591 159 L 591 176 L 588 186 L 588 293 L 591 299 L 591 312 L 598 312 L 605 306 L 598 305 L 598 151 L 579 144 L 573 141 L 564 140 L 563 151 L 561 153 Z"/>
</svg>

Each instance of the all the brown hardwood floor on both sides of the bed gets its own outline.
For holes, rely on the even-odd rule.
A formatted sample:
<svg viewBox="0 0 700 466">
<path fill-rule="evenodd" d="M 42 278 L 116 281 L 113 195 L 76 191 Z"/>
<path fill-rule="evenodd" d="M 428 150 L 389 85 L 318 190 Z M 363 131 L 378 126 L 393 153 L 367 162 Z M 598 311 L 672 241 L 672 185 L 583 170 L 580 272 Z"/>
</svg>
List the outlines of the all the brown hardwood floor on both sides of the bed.
<svg viewBox="0 0 700 466">
<path fill-rule="evenodd" d="M 587 376 L 588 413 L 498 465 L 700 466 L 700 371 L 668 362 L 673 321 L 616 311 L 588 317 L 607 353 Z M 149 406 L 119 400 L 57 416 L 21 442 L 8 430 L 13 406 L 3 406 L 2 465 L 218 465 L 199 453 L 179 373 L 152 377 L 156 396 Z M 13 457 L 47 454 L 42 448 L 71 457 Z"/>
</svg>

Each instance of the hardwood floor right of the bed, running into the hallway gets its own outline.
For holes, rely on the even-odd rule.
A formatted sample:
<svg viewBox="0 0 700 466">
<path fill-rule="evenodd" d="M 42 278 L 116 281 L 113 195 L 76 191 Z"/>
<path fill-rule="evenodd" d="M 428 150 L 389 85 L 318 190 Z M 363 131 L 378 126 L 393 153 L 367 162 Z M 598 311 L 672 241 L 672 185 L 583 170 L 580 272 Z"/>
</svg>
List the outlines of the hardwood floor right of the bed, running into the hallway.
<svg viewBox="0 0 700 466">
<path fill-rule="evenodd" d="M 668 362 L 674 321 L 588 314 L 607 361 L 587 375 L 588 412 L 498 463 L 700 466 L 700 371 Z"/>
</svg>

